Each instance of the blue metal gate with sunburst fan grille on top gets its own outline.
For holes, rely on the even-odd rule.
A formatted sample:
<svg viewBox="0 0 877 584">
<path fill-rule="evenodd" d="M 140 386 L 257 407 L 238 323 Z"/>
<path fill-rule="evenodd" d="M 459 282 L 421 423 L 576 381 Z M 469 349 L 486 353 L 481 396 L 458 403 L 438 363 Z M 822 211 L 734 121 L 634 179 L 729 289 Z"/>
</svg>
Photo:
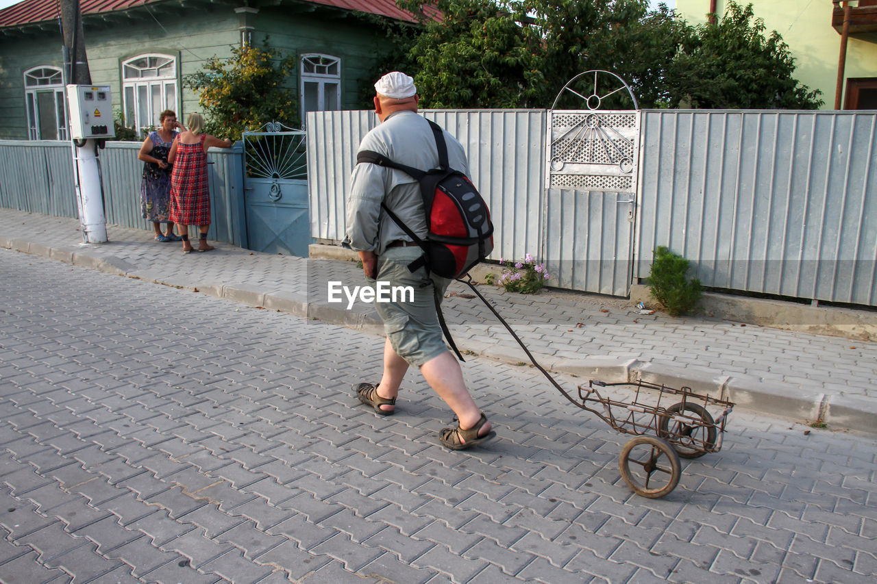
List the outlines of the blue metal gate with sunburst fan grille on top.
<svg viewBox="0 0 877 584">
<path fill-rule="evenodd" d="M 307 257 L 310 238 L 305 132 L 269 122 L 244 132 L 248 248 Z"/>
</svg>

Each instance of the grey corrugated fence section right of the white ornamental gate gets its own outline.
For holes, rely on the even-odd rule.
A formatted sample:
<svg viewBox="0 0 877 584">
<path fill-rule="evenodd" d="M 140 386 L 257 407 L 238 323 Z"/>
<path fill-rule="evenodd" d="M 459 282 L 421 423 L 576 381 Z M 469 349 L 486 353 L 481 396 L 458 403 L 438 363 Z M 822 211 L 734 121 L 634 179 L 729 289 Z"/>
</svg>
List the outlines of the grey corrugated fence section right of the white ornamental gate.
<svg viewBox="0 0 877 584">
<path fill-rule="evenodd" d="M 635 278 L 877 305 L 877 113 L 646 111 Z"/>
</svg>

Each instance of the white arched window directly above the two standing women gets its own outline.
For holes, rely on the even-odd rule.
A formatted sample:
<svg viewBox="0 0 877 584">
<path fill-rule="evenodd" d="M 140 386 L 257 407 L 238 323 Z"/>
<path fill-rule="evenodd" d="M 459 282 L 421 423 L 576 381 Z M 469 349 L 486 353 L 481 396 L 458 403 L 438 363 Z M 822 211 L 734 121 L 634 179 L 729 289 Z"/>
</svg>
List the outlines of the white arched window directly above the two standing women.
<svg viewBox="0 0 877 584">
<path fill-rule="evenodd" d="M 122 63 L 125 125 L 143 130 L 159 124 L 163 110 L 178 110 L 176 59 L 167 54 L 141 54 Z M 179 113 L 179 111 L 177 111 Z"/>
</svg>

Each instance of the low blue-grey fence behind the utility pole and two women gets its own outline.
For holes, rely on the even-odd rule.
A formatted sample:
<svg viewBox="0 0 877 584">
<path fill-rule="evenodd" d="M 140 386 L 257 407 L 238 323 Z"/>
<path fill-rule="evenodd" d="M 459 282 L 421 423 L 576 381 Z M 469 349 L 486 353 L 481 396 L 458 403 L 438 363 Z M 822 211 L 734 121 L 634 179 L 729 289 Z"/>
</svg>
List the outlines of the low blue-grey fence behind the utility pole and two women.
<svg viewBox="0 0 877 584">
<path fill-rule="evenodd" d="M 140 214 L 140 144 L 109 142 L 98 151 L 103 174 L 103 211 L 107 223 L 152 231 Z M 246 246 L 242 146 L 210 150 L 210 231 L 208 238 Z M 65 141 L 0 140 L 0 207 L 56 217 L 79 217 L 73 179 L 73 154 Z"/>
</svg>

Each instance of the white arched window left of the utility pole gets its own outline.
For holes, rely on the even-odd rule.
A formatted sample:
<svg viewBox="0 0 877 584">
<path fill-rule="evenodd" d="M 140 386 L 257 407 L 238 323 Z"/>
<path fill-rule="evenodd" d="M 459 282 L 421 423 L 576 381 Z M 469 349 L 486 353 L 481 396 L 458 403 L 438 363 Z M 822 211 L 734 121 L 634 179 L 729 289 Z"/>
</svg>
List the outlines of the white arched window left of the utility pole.
<svg viewBox="0 0 877 584">
<path fill-rule="evenodd" d="M 25 71 L 25 107 L 30 139 L 67 139 L 67 106 L 60 68 L 44 65 Z"/>
</svg>

